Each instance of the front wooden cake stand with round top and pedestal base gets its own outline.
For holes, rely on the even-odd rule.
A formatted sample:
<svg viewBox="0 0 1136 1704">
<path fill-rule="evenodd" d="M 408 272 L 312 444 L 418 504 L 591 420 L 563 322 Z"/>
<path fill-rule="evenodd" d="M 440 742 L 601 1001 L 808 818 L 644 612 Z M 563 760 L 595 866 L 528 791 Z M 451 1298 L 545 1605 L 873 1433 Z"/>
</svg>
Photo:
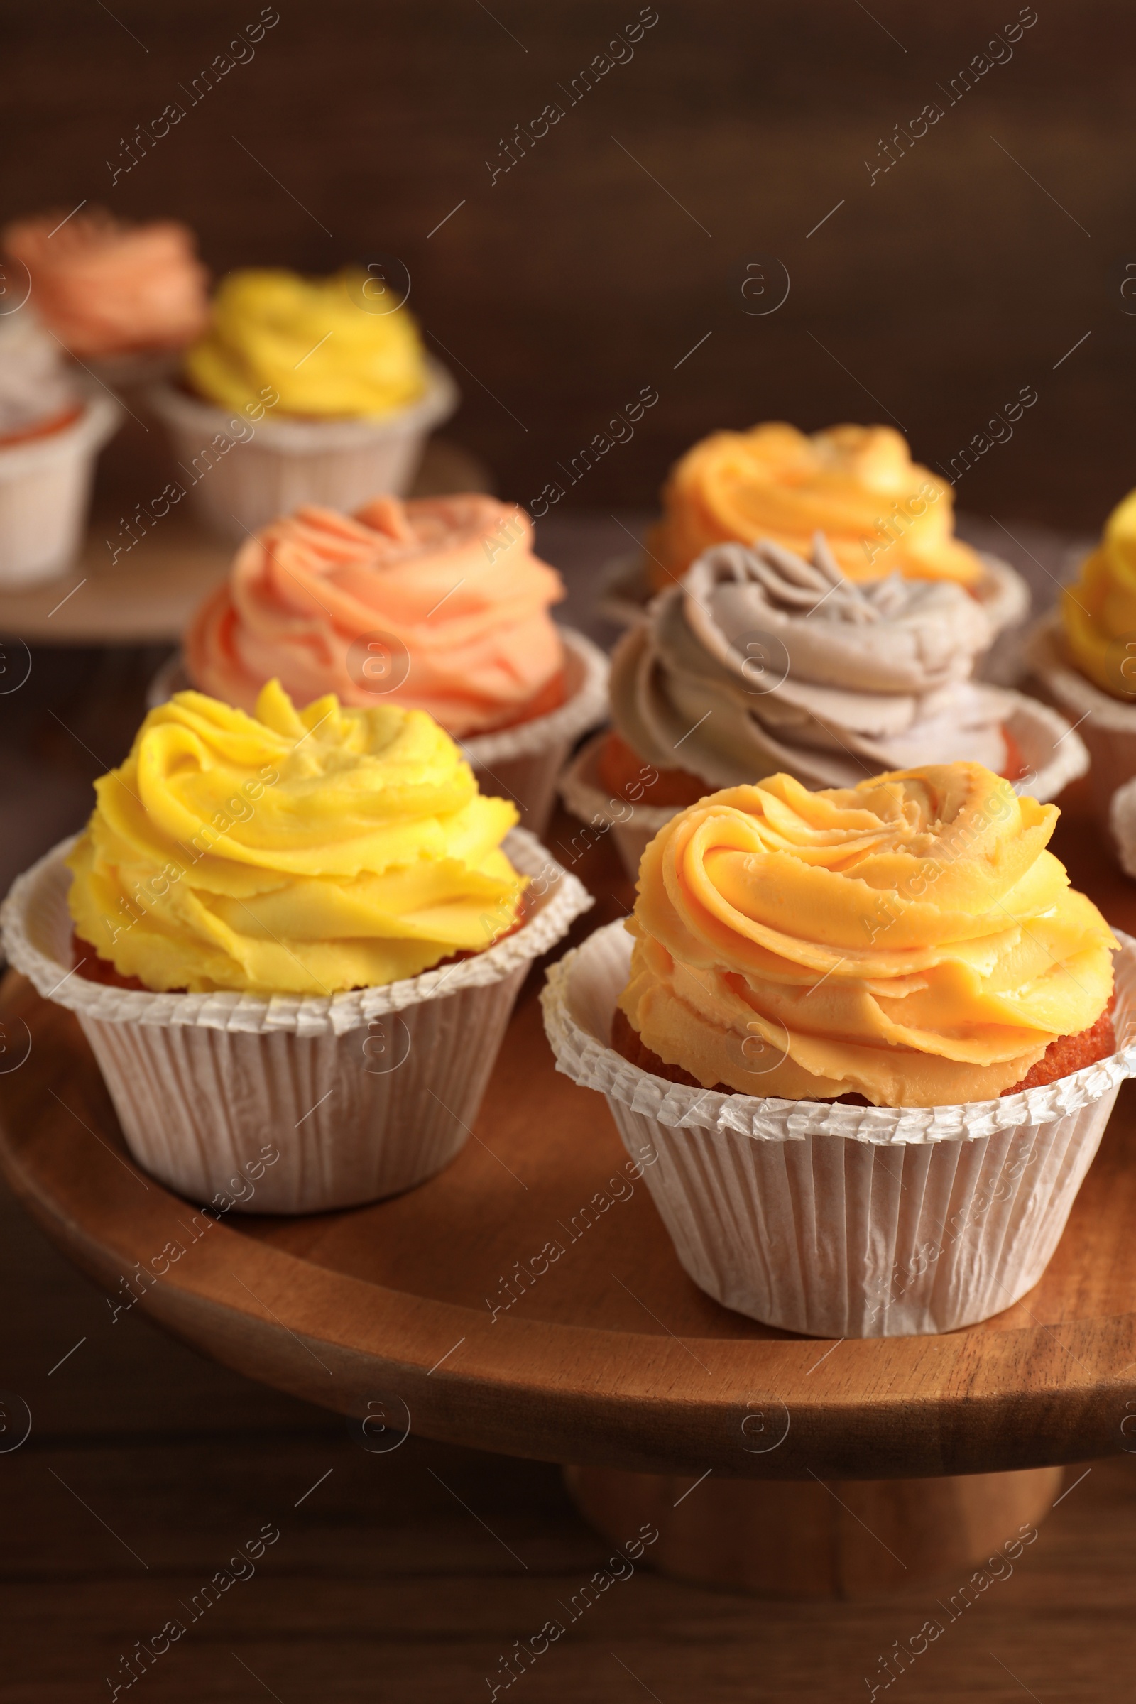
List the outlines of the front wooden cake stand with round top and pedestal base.
<svg viewBox="0 0 1136 1704">
<path fill-rule="evenodd" d="M 577 828 L 559 820 L 550 845 L 571 857 Z M 1058 850 L 1131 929 L 1136 888 L 1075 799 Z M 603 895 L 584 934 L 632 891 L 606 845 L 576 869 Z M 416 1430 L 571 1462 L 596 1527 L 625 1544 L 652 1523 L 645 1559 L 705 1583 L 855 1597 L 957 1576 L 1029 1535 L 1059 1464 L 1136 1448 L 1127 1085 L 1022 1302 L 945 1336 L 823 1343 L 695 1288 L 603 1099 L 554 1070 L 538 983 L 441 1176 L 376 1206 L 206 1225 L 131 1162 L 72 1014 L 9 975 L 0 1164 L 109 1307 L 354 1416 L 368 1448 Z"/>
</svg>

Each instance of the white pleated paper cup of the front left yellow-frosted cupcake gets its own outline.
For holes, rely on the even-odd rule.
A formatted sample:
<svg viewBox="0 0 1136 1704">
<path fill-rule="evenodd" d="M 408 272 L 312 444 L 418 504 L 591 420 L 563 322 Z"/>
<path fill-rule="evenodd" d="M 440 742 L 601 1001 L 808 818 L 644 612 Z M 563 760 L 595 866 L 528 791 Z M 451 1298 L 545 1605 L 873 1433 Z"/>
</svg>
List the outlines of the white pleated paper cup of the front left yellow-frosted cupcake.
<svg viewBox="0 0 1136 1704">
<path fill-rule="evenodd" d="M 72 968 L 72 843 L 14 884 L 0 913 L 9 961 L 78 1017 L 138 1164 L 191 1201 L 237 1191 L 237 1210 L 255 1213 L 354 1206 L 441 1171 L 477 1118 L 530 964 L 593 903 L 514 830 L 504 850 L 540 878 L 536 910 L 475 958 L 327 999 L 129 992 Z"/>
</svg>

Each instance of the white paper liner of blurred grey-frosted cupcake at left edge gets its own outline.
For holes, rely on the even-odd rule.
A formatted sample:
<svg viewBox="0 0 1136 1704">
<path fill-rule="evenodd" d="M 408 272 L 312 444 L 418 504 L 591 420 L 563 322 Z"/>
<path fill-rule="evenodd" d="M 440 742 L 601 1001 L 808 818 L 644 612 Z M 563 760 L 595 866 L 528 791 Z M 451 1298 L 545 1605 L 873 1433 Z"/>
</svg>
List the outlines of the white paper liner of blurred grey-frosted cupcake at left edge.
<svg viewBox="0 0 1136 1704">
<path fill-rule="evenodd" d="M 123 411 L 99 392 L 70 426 L 0 448 L 0 586 L 34 586 L 80 552 L 99 450 Z"/>
</svg>

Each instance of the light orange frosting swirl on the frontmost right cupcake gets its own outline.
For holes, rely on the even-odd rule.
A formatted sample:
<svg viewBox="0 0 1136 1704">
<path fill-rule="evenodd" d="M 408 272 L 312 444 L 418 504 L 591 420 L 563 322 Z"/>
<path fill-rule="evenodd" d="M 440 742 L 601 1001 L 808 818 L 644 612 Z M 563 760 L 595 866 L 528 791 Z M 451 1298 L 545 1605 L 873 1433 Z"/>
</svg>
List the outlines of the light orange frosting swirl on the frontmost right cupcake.
<svg viewBox="0 0 1136 1704">
<path fill-rule="evenodd" d="M 1046 850 L 1058 815 L 979 763 L 702 799 L 644 852 L 620 1007 L 705 1087 L 993 1099 L 1112 992 L 1112 932 Z"/>
</svg>

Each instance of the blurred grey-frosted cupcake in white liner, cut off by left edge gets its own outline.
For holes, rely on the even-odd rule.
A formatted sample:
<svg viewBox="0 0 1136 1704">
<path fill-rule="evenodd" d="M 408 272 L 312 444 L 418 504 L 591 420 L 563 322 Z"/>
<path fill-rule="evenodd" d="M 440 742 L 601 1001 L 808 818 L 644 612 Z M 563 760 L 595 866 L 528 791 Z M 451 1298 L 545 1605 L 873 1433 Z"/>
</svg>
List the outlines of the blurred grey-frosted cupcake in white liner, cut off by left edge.
<svg viewBox="0 0 1136 1704">
<path fill-rule="evenodd" d="M 119 419 L 109 395 L 78 385 L 31 307 L 0 315 L 0 586 L 75 561 L 95 455 Z"/>
</svg>

